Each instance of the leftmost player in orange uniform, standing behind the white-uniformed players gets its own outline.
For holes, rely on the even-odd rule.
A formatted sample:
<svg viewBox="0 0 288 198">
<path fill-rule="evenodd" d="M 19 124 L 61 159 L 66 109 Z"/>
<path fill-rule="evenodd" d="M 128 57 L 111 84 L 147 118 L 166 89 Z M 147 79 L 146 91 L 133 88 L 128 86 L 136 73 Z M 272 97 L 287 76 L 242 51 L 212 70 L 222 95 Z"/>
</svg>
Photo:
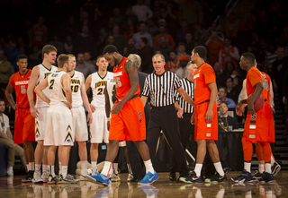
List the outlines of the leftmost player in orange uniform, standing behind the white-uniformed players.
<svg viewBox="0 0 288 198">
<path fill-rule="evenodd" d="M 15 110 L 14 143 L 24 144 L 24 158 L 28 164 L 28 174 L 22 182 L 31 182 L 34 174 L 34 148 L 31 142 L 35 141 L 35 118 L 31 116 L 27 99 L 27 87 L 31 76 L 31 70 L 27 69 L 27 59 L 25 55 L 16 57 L 19 72 L 10 77 L 5 90 L 6 98 Z M 16 93 L 16 104 L 12 96 L 13 89 Z"/>
</svg>

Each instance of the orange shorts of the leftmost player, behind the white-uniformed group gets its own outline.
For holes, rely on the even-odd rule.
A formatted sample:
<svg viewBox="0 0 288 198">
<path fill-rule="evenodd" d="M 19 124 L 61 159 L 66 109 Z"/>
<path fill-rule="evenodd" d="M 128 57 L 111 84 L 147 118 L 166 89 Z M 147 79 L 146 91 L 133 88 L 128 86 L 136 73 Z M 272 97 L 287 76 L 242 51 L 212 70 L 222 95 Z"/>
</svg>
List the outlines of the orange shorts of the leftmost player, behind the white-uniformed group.
<svg viewBox="0 0 288 198">
<path fill-rule="evenodd" d="M 14 143 L 35 141 L 35 118 L 30 114 L 30 108 L 16 108 Z"/>
</svg>

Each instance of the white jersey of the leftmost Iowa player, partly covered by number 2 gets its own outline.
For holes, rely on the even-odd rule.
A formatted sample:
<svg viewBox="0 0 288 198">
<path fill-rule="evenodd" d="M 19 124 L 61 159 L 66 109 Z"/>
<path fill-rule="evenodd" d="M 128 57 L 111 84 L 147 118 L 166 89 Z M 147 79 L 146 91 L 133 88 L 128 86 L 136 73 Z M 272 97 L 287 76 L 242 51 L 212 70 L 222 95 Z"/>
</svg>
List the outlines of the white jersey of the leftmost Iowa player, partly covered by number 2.
<svg viewBox="0 0 288 198">
<path fill-rule="evenodd" d="M 58 70 L 58 67 L 52 65 L 50 69 L 48 69 L 47 67 L 45 67 L 44 65 L 40 64 L 40 65 L 36 65 L 39 67 L 39 77 L 38 80 L 36 82 L 36 85 L 38 85 L 40 82 L 44 81 L 44 79 L 47 78 L 47 76 L 49 76 L 50 73 L 54 73 Z M 44 90 L 42 90 L 45 95 L 49 98 L 49 90 L 48 88 L 45 88 Z M 40 97 L 37 95 L 36 98 L 36 108 L 48 108 L 49 105 L 44 102 L 42 99 L 40 99 Z"/>
</svg>

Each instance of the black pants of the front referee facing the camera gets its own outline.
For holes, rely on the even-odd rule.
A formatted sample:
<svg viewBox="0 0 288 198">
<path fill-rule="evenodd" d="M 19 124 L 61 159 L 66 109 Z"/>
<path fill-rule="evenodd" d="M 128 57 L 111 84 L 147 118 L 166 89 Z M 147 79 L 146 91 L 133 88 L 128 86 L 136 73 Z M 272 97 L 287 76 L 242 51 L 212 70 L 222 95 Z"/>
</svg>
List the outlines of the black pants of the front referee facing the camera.
<svg viewBox="0 0 288 198">
<path fill-rule="evenodd" d="M 189 173 L 184 155 L 184 149 L 181 143 L 178 118 L 176 116 L 174 105 L 161 108 L 152 108 L 150 111 L 147 144 L 152 160 L 156 154 L 157 141 L 161 130 L 166 137 L 166 141 L 175 152 L 177 159 L 173 158 L 172 160 L 176 160 L 178 162 L 180 176 L 188 176 Z"/>
</svg>

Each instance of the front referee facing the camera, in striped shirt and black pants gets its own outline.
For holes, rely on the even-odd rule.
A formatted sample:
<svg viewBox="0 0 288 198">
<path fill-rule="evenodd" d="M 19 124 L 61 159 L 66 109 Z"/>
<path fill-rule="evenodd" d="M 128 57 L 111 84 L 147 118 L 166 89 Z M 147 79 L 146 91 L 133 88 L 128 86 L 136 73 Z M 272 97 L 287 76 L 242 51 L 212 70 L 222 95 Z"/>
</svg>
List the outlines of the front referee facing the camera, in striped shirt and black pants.
<svg viewBox="0 0 288 198">
<path fill-rule="evenodd" d="M 152 57 L 154 73 L 148 75 L 142 91 L 142 102 L 145 106 L 148 96 L 150 96 L 150 110 L 147 144 L 150 151 L 150 157 L 155 157 L 157 140 L 161 130 L 166 141 L 175 152 L 180 168 L 180 177 L 188 176 L 188 168 L 184 155 L 184 149 L 180 140 L 178 120 L 175 111 L 175 90 L 192 106 L 193 100 L 181 87 L 179 78 L 175 73 L 165 70 L 165 58 L 161 54 Z M 176 160 L 176 159 L 174 159 Z"/>
</svg>

